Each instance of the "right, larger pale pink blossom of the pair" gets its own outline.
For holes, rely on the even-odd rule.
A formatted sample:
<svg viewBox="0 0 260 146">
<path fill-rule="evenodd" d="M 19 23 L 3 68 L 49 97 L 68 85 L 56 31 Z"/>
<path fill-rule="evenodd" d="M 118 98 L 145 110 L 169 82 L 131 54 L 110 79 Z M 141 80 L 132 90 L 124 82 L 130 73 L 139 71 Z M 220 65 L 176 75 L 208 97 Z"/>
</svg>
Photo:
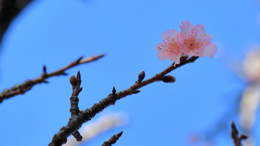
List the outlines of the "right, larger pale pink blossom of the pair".
<svg viewBox="0 0 260 146">
<path fill-rule="evenodd" d="M 217 46 L 210 42 L 211 35 L 208 35 L 204 30 L 204 25 L 197 24 L 195 27 L 187 20 L 181 21 L 180 38 L 183 53 L 190 56 L 209 56 L 214 57 L 217 53 Z"/>
</svg>

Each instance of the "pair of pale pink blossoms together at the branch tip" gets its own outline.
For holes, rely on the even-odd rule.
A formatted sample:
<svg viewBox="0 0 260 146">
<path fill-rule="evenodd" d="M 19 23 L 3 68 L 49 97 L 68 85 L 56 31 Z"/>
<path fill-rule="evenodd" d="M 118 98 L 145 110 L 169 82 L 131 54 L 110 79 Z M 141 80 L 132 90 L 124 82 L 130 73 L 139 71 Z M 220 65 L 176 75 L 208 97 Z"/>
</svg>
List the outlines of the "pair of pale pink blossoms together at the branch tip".
<svg viewBox="0 0 260 146">
<path fill-rule="evenodd" d="M 180 63 L 182 55 L 214 57 L 213 53 L 217 53 L 217 46 L 210 42 L 213 36 L 206 34 L 204 25 L 197 24 L 194 27 L 192 23 L 184 20 L 179 26 L 181 32 L 172 29 L 162 33 L 163 42 L 155 47 L 156 51 L 159 51 L 157 55 L 160 61 L 170 59 L 175 61 L 175 66 Z"/>
</svg>

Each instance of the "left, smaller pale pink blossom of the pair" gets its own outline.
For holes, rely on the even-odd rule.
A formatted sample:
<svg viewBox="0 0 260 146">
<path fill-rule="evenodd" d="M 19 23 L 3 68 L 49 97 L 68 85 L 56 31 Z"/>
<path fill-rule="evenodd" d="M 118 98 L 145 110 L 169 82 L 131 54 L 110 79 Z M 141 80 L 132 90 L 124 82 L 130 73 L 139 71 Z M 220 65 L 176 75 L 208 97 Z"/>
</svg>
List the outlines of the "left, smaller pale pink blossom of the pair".
<svg viewBox="0 0 260 146">
<path fill-rule="evenodd" d="M 167 30 L 161 35 L 163 42 L 158 43 L 155 47 L 155 50 L 159 51 L 157 55 L 160 58 L 160 61 L 162 60 L 164 62 L 165 59 L 175 61 L 174 67 L 176 64 L 180 63 L 180 57 L 183 54 L 179 35 L 180 32 L 175 29 Z"/>
</svg>

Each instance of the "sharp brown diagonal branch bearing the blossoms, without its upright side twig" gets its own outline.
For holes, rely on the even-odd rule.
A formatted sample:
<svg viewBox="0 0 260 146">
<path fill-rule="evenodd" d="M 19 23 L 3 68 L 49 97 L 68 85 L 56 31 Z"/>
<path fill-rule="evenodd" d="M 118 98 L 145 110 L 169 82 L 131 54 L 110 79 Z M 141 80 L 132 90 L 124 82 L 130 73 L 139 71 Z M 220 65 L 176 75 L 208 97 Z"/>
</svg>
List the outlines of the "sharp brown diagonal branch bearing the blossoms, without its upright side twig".
<svg viewBox="0 0 260 146">
<path fill-rule="evenodd" d="M 142 71 L 139 76 L 138 76 L 138 81 L 136 81 L 131 87 L 127 88 L 126 90 L 120 91 L 116 93 L 115 87 L 112 90 L 112 94 L 109 94 L 106 98 L 103 98 L 99 103 L 95 103 L 91 108 L 88 108 L 86 110 L 80 111 L 79 115 L 72 116 L 69 118 L 68 124 L 60 129 L 60 131 L 57 134 L 54 134 L 53 139 L 51 143 L 49 143 L 49 146 L 60 146 L 64 143 L 67 142 L 67 137 L 70 135 L 74 134 L 75 131 L 80 129 L 81 125 L 83 123 L 86 123 L 87 121 L 91 120 L 92 118 L 95 117 L 95 115 L 103 109 L 107 108 L 110 105 L 114 105 L 115 102 L 123 97 L 126 97 L 128 95 L 136 94 L 139 93 L 140 89 L 148 84 L 151 84 L 153 82 L 168 82 L 168 83 L 173 83 L 175 81 L 175 78 L 173 76 L 165 76 L 172 70 L 179 68 L 185 64 L 192 63 L 194 62 L 197 58 L 199 57 L 181 57 L 181 62 L 180 64 L 176 64 L 176 67 L 174 67 L 174 63 L 170 65 L 168 68 L 160 72 L 159 74 L 156 74 L 155 76 L 145 80 L 142 82 L 142 80 L 145 77 L 144 71 Z M 74 78 L 72 76 L 72 78 Z M 73 79 L 74 81 L 74 79 Z"/>
</svg>

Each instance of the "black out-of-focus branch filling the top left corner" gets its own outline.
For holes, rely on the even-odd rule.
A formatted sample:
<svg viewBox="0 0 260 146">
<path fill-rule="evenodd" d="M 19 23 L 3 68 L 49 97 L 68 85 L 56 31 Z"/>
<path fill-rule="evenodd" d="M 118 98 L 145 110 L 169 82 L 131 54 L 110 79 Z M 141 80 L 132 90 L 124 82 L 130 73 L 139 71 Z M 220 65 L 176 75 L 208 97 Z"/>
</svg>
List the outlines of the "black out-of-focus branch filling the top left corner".
<svg viewBox="0 0 260 146">
<path fill-rule="evenodd" d="M 0 43 L 11 21 L 32 0 L 0 0 Z"/>
</svg>

